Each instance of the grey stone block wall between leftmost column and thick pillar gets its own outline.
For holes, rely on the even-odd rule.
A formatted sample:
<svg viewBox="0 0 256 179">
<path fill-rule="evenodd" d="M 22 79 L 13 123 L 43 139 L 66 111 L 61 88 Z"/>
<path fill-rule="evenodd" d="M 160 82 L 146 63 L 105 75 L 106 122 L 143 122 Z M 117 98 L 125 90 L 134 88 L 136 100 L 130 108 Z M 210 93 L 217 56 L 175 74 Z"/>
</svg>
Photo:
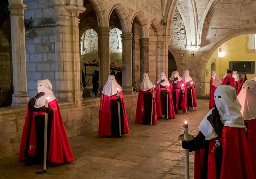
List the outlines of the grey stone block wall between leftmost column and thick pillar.
<svg viewBox="0 0 256 179">
<path fill-rule="evenodd" d="M 27 61 L 27 88 L 34 96 L 38 79 L 49 79 L 55 86 L 55 21 L 51 0 L 24 0 Z"/>
</svg>

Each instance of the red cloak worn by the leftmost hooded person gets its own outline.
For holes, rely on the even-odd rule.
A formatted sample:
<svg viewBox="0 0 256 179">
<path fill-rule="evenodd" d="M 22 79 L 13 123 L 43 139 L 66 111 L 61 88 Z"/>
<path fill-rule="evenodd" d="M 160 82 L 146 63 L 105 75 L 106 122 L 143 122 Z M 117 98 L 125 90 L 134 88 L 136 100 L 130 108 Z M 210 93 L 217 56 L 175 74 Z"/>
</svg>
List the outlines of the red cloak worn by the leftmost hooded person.
<svg viewBox="0 0 256 179">
<path fill-rule="evenodd" d="M 74 156 L 69 144 L 69 139 L 65 126 L 59 111 L 57 100 L 50 101 L 48 105 L 53 109 L 53 119 L 51 127 L 50 146 L 48 153 L 48 160 L 54 163 L 64 163 L 74 160 Z M 30 137 L 29 145 L 33 148 L 28 150 L 28 156 L 35 156 L 36 151 L 36 133 L 35 133 L 35 113 L 28 109 L 26 106 L 25 125 L 23 127 L 22 139 L 20 145 L 19 161 L 25 159 L 24 152 L 27 143 L 27 136 L 29 135 L 30 126 Z"/>
</svg>

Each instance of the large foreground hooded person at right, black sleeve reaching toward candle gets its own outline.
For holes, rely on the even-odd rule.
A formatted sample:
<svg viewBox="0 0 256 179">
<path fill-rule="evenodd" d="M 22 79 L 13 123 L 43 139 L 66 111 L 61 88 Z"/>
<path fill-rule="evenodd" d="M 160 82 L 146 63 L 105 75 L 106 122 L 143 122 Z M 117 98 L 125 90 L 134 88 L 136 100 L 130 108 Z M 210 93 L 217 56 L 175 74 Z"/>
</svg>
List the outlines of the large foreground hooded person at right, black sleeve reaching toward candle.
<svg viewBox="0 0 256 179">
<path fill-rule="evenodd" d="M 182 142 L 195 151 L 195 179 L 253 179 L 246 142 L 246 126 L 236 90 L 220 85 L 214 93 L 216 107 L 198 126 L 193 140 Z"/>
</svg>

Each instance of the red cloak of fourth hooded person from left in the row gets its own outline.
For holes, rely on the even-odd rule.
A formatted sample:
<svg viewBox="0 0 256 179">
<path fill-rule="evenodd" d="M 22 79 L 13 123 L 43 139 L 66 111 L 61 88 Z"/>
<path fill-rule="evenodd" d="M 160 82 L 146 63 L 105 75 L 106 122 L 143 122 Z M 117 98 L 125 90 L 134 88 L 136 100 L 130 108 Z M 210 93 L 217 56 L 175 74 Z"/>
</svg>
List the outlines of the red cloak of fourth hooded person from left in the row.
<svg viewBox="0 0 256 179">
<path fill-rule="evenodd" d="M 166 88 L 169 89 L 169 109 L 168 109 L 168 116 L 170 119 L 175 118 L 175 111 L 173 107 L 173 98 L 172 98 L 172 90 L 171 87 L 168 85 L 165 86 Z M 157 117 L 162 117 L 162 106 L 161 106 L 161 90 L 166 90 L 161 88 L 160 89 L 160 83 L 156 84 L 156 94 L 155 94 L 155 99 L 156 99 L 156 115 Z"/>
</svg>

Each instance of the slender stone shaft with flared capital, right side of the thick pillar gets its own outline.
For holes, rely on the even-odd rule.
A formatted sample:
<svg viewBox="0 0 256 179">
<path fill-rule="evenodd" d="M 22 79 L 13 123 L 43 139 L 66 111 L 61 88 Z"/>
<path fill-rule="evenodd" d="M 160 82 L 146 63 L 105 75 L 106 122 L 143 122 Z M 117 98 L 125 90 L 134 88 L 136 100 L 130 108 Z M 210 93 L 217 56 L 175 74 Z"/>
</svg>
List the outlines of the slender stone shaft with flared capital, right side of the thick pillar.
<svg viewBox="0 0 256 179">
<path fill-rule="evenodd" d="M 71 12 L 71 42 L 72 42 L 72 59 L 74 61 L 74 100 L 75 103 L 80 106 L 81 103 L 81 70 L 80 70 L 80 39 L 79 39 L 79 13 L 84 12 L 84 7 L 77 7 L 77 6 L 66 6 L 65 7 L 68 11 Z"/>
</svg>

